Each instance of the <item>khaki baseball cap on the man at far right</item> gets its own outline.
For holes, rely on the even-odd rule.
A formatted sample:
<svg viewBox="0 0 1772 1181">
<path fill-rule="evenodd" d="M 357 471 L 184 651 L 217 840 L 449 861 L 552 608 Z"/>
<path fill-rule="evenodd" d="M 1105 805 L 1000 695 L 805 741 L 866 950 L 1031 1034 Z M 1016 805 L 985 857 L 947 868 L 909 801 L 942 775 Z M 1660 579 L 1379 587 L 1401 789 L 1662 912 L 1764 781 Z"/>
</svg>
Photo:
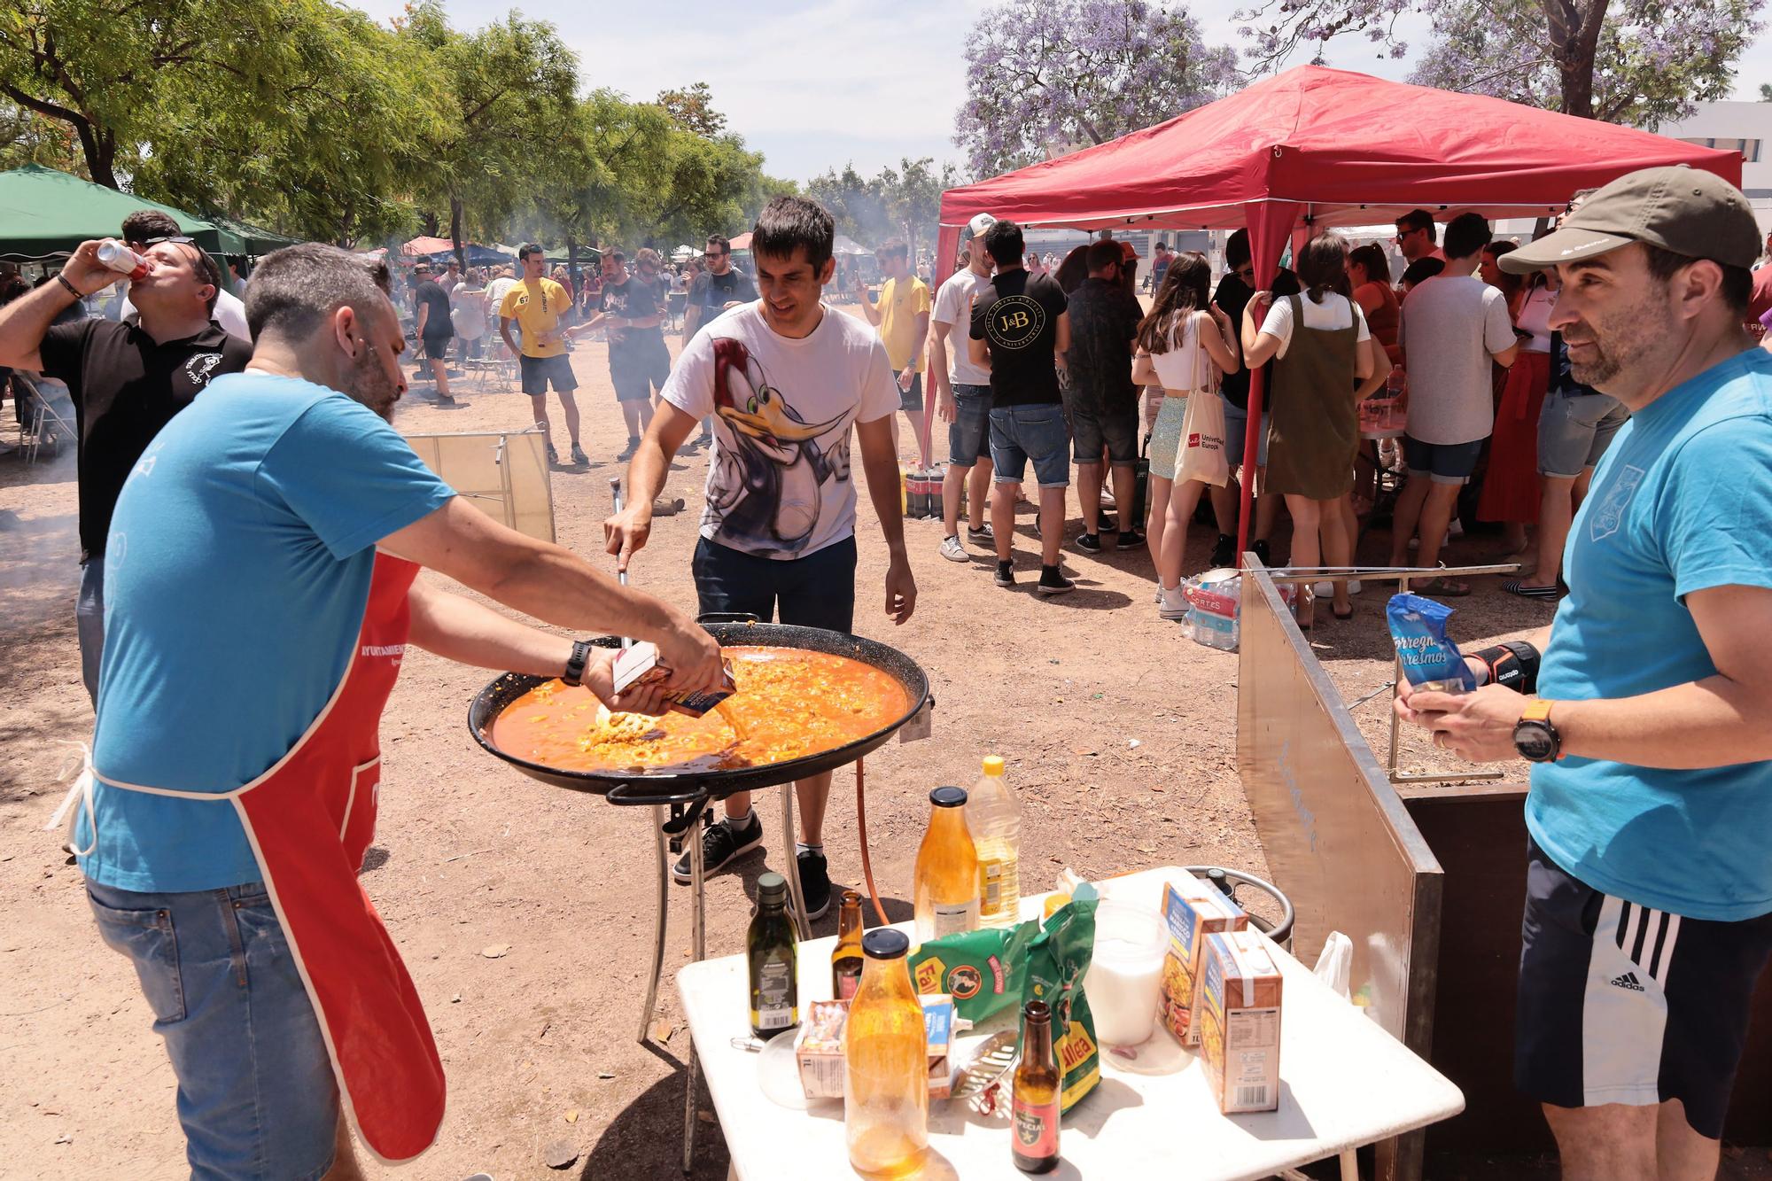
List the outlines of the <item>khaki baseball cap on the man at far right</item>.
<svg viewBox="0 0 1772 1181">
<path fill-rule="evenodd" d="M 1667 165 L 1628 172 L 1597 188 L 1561 229 L 1496 262 L 1510 275 L 1526 275 L 1634 241 L 1745 270 L 1760 257 L 1761 239 L 1742 190 L 1714 172 Z"/>
</svg>

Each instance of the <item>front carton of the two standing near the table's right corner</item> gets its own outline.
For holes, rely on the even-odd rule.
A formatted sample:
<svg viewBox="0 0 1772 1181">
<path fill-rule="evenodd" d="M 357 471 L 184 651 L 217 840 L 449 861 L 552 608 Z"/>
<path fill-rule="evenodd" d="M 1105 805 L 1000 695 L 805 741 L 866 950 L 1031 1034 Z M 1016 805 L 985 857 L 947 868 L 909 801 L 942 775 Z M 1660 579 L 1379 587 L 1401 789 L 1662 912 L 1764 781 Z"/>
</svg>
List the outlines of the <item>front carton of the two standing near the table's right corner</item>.
<svg viewBox="0 0 1772 1181">
<path fill-rule="evenodd" d="M 1209 935 L 1201 950 L 1200 1057 L 1219 1110 L 1279 1107 L 1279 968 L 1255 931 Z"/>
</svg>

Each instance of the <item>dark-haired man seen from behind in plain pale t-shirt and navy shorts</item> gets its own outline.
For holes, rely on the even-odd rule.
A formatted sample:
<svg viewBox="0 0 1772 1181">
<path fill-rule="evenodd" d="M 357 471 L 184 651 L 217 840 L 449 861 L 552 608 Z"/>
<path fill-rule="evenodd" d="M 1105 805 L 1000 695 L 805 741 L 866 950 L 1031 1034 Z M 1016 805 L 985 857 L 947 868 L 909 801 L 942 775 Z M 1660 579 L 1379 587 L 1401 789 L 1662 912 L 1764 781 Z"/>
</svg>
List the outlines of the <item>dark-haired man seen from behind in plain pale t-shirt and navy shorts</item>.
<svg viewBox="0 0 1772 1181">
<path fill-rule="evenodd" d="M 1496 426 L 1490 360 L 1512 365 L 1520 353 L 1506 296 L 1474 275 L 1488 241 L 1488 222 L 1480 215 L 1455 216 L 1446 225 L 1446 270 L 1403 300 L 1398 340 L 1409 371 L 1403 436 L 1409 482 L 1391 523 L 1391 566 L 1403 566 L 1416 525 L 1421 550 L 1414 564 L 1439 564 L 1458 488 L 1471 479 L 1483 440 Z M 1444 576 L 1418 582 L 1414 589 L 1434 596 L 1471 592 Z"/>
</svg>

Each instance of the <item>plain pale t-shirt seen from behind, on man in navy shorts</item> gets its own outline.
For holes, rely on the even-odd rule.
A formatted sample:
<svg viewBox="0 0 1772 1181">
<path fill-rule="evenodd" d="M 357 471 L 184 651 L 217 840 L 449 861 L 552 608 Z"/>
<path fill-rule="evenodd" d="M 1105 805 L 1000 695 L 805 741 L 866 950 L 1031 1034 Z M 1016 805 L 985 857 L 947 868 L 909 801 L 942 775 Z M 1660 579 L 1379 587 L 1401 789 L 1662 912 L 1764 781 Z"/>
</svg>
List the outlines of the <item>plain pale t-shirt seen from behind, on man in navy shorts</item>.
<svg viewBox="0 0 1772 1181">
<path fill-rule="evenodd" d="M 1435 275 L 1403 300 L 1409 438 L 1474 443 L 1496 427 L 1492 353 L 1513 344 L 1508 298 L 1476 275 Z"/>
</svg>

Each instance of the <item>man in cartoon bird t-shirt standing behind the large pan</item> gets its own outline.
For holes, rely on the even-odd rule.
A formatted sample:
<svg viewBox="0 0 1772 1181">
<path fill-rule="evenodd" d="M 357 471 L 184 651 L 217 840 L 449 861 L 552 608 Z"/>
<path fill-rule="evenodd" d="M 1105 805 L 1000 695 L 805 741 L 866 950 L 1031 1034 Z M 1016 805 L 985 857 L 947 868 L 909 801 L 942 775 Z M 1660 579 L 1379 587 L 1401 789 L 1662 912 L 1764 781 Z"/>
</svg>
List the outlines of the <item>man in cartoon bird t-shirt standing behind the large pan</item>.
<svg viewBox="0 0 1772 1181">
<path fill-rule="evenodd" d="M 916 605 L 898 507 L 891 417 L 898 383 L 868 325 L 822 301 L 835 264 L 831 215 L 804 197 L 776 197 L 751 231 L 760 300 L 728 309 L 684 346 L 659 392 L 652 426 L 627 466 L 627 507 L 604 521 L 610 553 L 627 569 L 652 530 L 652 500 L 670 459 L 712 415 L 707 507 L 695 548 L 702 612 L 854 630 L 856 484 L 851 433 L 861 443 L 868 497 L 890 553 L 886 615 L 902 624 Z M 796 849 L 806 919 L 831 904 L 824 805 L 831 773 L 794 784 Z M 702 833 L 707 872 L 762 846 L 750 793 L 730 796 L 725 819 Z M 689 881 L 689 855 L 673 876 Z"/>
</svg>

